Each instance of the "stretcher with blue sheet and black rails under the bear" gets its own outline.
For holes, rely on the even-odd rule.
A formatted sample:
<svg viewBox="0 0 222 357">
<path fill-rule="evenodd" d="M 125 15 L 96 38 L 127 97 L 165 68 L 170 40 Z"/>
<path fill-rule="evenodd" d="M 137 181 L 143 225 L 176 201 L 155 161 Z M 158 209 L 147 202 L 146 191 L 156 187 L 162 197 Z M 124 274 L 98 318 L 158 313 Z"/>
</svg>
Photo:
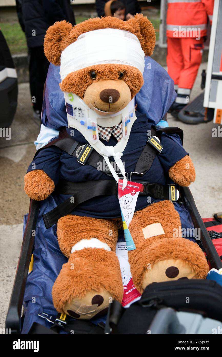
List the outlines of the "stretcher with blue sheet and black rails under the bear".
<svg viewBox="0 0 222 357">
<path fill-rule="evenodd" d="M 145 57 L 145 68 L 150 69 L 144 71 L 145 84 L 136 97 L 137 110 L 145 113 L 149 121 L 157 125 L 175 100 L 176 94 L 170 77 L 151 57 Z M 59 70 L 58 66 L 50 64 L 42 109 L 42 124 L 44 127 L 50 128 L 53 133 L 51 137 L 43 134 L 41 140 L 38 139 L 36 142 L 37 149 L 56 137 L 62 126 L 67 127 L 64 96 L 58 86 L 60 82 Z M 148 84 L 149 90 L 147 90 Z M 176 140 L 180 140 L 180 138 L 178 137 Z M 201 220 L 189 188 L 181 187 L 180 193 L 184 203 L 182 206 L 179 203 L 174 204 L 180 214 L 181 225 L 183 226 L 184 223 L 184 226 L 187 224 L 187 227 L 193 226 L 201 230 L 201 238 L 197 240 L 197 243 L 206 252 L 211 267 L 219 270 L 222 267 L 221 259 Z M 56 224 L 46 229 L 42 217 L 49 211 L 49 208 L 52 210 L 59 203 L 61 203 L 59 198 L 53 194 L 42 202 L 30 201 L 29 214 L 24 219 L 24 238 L 6 317 L 6 328 L 11 328 L 11 333 L 33 333 L 30 330 L 35 323 L 44 329 L 45 332 L 41 333 L 48 333 L 48 331 L 52 333 L 50 327 L 55 325 L 52 322 L 57 321 L 56 330 L 62 324 L 62 318 L 57 318 L 57 312 L 53 307 L 51 291 L 62 265 L 67 262 L 67 258 L 58 246 Z M 119 241 L 124 242 L 123 231 L 120 231 Z M 86 321 L 73 321 L 78 323 L 79 330 L 84 331 L 87 325 Z M 92 322 L 94 326 L 104 327 L 106 316 L 97 321 L 92 320 Z M 60 333 L 64 332 L 64 329 L 63 331 L 60 329 Z"/>
</svg>

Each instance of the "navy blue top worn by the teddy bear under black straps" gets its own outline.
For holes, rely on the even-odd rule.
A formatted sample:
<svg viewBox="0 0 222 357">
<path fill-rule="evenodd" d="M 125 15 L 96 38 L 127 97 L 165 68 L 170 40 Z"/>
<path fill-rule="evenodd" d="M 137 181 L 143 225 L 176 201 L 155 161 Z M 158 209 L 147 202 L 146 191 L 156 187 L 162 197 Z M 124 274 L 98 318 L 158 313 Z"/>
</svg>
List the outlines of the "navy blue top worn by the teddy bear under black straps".
<svg viewBox="0 0 222 357">
<path fill-rule="evenodd" d="M 136 111 L 136 121 L 134 122 L 129 141 L 123 152 L 122 161 L 125 164 L 125 171 L 135 171 L 136 163 L 140 157 L 141 152 L 144 149 L 147 141 L 147 131 L 151 129 L 151 124 L 148 122 L 145 114 L 140 114 Z M 73 129 L 72 129 L 73 130 Z M 67 129 L 69 132 L 70 129 Z M 86 144 L 86 139 L 82 134 L 74 129 L 73 139 L 77 140 L 81 144 Z M 116 139 L 111 136 L 109 142 L 103 141 L 105 145 L 115 145 Z M 177 161 L 181 160 L 188 153 L 184 150 L 182 145 L 178 143 L 178 136 L 168 136 L 162 134 L 161 144 L 163 150 L 161 154 L 157 154 L 153 164 L 148 172 L 143 175 L 143 180 L 150 183 L 160 183 L 166 185 L 170 183 L 168 171 Z M 112 161 L 112 158 L 110 159 Z M 33 163 L 35 163 L 36 169 L 41 169 L 46 172 L 48 176 L 52 178 L 55 185 L 59 180 L 68 180 L 72 182 L 84 182 L 89 180 L 110 180 L 110 176 L 102 171 L 98 171 L 94 167 L 86 164 L 82 165 L 77 162 L 76 157 L 62 152 L 61 149 L 50 146 L 41 150 L 35 160 L 29 166 L 27 172 L 32 171 Z M 133 180 L 141 179 L 139 175 L 133 176 Z M 63 195 L 61 200 L 63 201 L 68 196 Z M 151 198 L 151 203 L 157 202 Z M 150 202 L 147 202 L 146 196 L 139 196 L 136 203 L 136 211 L 148 206 Z M 104 207 L 106 210 L 104 212 Z M 89 216 L 96 218 L 114 218 L 120 216 L 120 208 L 118 199 L 115 196 L 100 196 L 91 200 L 83 202 L 77 206 L 72 214 L 79 216 Z"/>
</svg>

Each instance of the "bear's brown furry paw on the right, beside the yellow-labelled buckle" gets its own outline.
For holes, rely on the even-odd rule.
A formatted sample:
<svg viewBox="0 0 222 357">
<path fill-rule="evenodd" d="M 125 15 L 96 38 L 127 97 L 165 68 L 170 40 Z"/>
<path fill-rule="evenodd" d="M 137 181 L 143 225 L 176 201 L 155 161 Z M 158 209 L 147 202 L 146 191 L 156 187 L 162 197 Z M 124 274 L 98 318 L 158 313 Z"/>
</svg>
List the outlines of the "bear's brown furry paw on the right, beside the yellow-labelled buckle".
<svg viewBox="0 0 222 357">
<path fill-rule="evenodd" d="M 171 180 L 178 183 L 180 186 L 187 187 L 195 181 L 195 167 L 190 156 L 186 155 L 175 165 L 170 167 L 169 176 Z"/>
</svg>

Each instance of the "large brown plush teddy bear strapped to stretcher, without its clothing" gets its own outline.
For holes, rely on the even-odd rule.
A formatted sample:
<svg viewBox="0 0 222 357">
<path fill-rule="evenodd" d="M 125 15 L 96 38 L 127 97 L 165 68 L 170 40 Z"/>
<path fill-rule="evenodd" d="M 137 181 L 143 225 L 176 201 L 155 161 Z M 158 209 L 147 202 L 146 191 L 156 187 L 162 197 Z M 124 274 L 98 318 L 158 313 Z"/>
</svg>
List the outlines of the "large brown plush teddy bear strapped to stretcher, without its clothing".
<svg viewBox="0 0 222 357">
<path fill-rule="evenodd" d="M 89 19 L 74 27 L 66 21 L 56 22 L 49 27 L 45 37 L 44 49 L 47 59 L 54 65 L 60 65 L 62 51 L 75 41 L 78 42 L 80 35 L 101 29 L 128 31 L 124 34 L 130 33 L 137 37 L 143 55 L 149 56 L 153 52 L 155 32 L 146 17 L 136 15 L 134 19 L 124 22 L 108 16 L 102 19 Z M 76 58 L 78 59 L 78 53 Z M 92 66 L 83 64 L 82 68 L 71 72 L 72 63 L 70 66 L 65 75 L 63 72 L 61 90 L 76 94 L 89 106 L 93 104 L 93 110 L 97 109 L 100 114 L 104 112 L 104 116 L 109 112 L 119 113 L 143 85 L 143 71 L 140 70 L 139 64 L 134 66 L 111 59 L 110 62 Z M 110 97 L 112 101 L 109 100 Z M 138 124 L 135 122 L 134 127 L 136 125 Z M 146 136 L 146 133 L 141 132 L 141 141 L 143 135 Z M 45 152 L 47 153 L 47 149 Z M 76 165 L 79 170 L 78 181 L 84 181 L 86 178 L 81 177 L 81 170 L 84 170 L 84 167 L 75 157 L 72 157 L 72 160 L 73 166 Z M 45 200 L 56 186 L 56 178 L 52 178 L 53 174 L 46 170 L 47 155 L 44 165 L 36 165 L 35 170 L 29 169 L 25 176 L 25 192 L 34 200 Z M 127 166 L 127 162 L 125 165 Z M 187 153 L 178 161 L 175 160 L 167 175 L 181 186 L 189 186 L 195 180 L 195 169 Z M 113 200 L 117 198 L 113 196 Z M 136 246 L 136 250 L 129 252 L 135 287 L 142 293 L 151 282 L 205 278 L 208 266 L 198 245 L 173 236 L 174 228 L 181 225 L 179 213 L 173 203 L 159 200 L 145 206 L 136 210 L 129 225 Z M 92 206 L 92 211 L 93 209 Z M 164 234 L 145 239 L 143 228 L 153 223 L 160 223 Z M 112 299 L 121 302 L 123 283 L 115 254 L 118 239 L 117 220 L 69 214 L 58 220 L 57 236 L 62 253 L 69 258 L 63 265 L 52 290 L 53 303 L 57 311 L 76 318 L 89 319 L 105 313 Z"/>
</svg>

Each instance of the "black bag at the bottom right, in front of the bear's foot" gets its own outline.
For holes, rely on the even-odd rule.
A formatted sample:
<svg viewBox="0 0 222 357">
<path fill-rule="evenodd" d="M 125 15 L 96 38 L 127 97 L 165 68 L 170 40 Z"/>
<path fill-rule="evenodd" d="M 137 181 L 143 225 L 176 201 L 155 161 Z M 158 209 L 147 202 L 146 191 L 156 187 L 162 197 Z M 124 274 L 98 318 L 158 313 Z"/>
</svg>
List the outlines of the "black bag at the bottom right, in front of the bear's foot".
<svg viewBox="0 0 222 357">
<path fill-rule="evenodd" d="M 129 308 L 116 301 L 110 304 L 105 332 L 147 334 L 157 312 L 166 307 L 222 321 L 221 300 L 222 286 L 212 280 L 152 283 Z"/>
</svg>

